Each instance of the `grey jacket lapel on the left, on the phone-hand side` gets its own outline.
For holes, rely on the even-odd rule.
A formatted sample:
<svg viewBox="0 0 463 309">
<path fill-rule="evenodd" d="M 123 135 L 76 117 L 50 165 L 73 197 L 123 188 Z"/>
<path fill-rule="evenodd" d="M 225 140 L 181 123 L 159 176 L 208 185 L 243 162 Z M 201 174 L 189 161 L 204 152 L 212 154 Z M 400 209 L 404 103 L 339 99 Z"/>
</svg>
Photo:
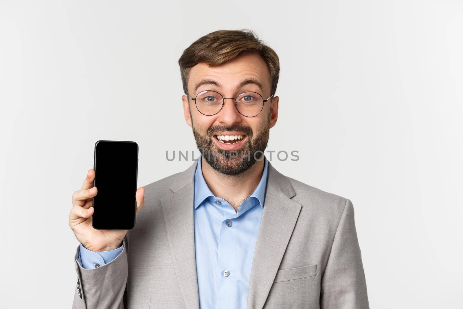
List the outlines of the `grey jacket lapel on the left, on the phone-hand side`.
<svg viewBox="0 0 463 309">
<path fill-rule="evenodd" d="M 161 198 L 170 254 L 181 294 L 188 309 L 199 309 L 194 251 L 194 171 L 197 162 L 178 174 L 170 185 L 174 194 Z"/>
</svg>

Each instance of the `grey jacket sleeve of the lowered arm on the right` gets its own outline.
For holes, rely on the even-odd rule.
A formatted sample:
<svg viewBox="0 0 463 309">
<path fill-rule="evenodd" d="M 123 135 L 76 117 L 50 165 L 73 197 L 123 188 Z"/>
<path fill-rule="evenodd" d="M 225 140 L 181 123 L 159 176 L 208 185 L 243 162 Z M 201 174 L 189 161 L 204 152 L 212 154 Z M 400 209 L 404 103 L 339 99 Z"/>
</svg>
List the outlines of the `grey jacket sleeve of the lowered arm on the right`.
<svg viewBox="0 0 463 309">
<path fill-rule="evenodd" d="M 354 207 L 346 201 L 321 278 L 321 309 L 369 309 L 362 254 L 357 240 Z"/>
</svg>

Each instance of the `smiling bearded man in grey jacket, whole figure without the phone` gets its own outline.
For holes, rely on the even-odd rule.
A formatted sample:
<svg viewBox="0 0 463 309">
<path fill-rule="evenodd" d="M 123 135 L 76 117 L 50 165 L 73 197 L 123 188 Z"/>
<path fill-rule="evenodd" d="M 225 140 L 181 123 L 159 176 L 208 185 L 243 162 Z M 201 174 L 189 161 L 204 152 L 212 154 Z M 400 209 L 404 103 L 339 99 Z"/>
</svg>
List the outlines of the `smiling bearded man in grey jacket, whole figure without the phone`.
<svg viewBox="0 0 463 309">
<path fill-rule="evenodd" d="M 74 308 L 369 308 L 350 200 L 263 156 L 278 117 L 275 51 L 251 31 L 221 30 L 179 64 L 202 155 L 138 188 L 127 233 L 91 226 L 88 171 L 69 215 L 81 242 Z"/>
</svg>

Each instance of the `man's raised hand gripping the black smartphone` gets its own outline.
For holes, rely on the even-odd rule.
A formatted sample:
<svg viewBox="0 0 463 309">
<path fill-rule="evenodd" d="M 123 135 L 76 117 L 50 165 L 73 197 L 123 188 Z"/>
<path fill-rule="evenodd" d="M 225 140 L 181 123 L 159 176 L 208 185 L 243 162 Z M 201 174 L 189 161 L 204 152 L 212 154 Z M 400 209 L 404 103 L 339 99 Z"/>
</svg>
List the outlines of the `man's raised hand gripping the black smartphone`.
<svg viewBox="0 0 463 309">
<path fill-rule="evenodd" d="M 109 251 L 122 246 L 122 240 L 127 230 L 97 230 L 92 227 L 94 212 L 93 197 L 98 190 L 93 185 L 95 170 L 90 169 L 82 184 L 82 189 L 72 195 L 72 209 L 69 214 L 69 226 L 75 237 L 90 251 Z M 137 211 L 144 205 L 144 188 L 138 188 L 135 193 Z"/>
</svg>

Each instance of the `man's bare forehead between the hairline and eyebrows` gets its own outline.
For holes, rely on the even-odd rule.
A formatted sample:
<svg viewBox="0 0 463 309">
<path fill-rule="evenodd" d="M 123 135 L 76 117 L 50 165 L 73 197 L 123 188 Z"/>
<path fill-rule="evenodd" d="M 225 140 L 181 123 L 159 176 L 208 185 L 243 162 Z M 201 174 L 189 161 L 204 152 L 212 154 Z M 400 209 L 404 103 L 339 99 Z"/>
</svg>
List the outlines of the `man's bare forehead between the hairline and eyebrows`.
<svg viewBox="0 0 463 309">
<path fill-rule="evenodd" d="M 216 81 L 222 89 L 235 89 L 244 80 L 255 79 L 262 84 L 262 91 L 267 93 L 270 91 L 269 75 L 267 64 L 259 54 L 245 54 L 215 67 L 210 67 L 207 63 L 196 64 L 190 69 L 188 89 L 195 93 L 195 86 L 204 80 Z M 254 84 L 249 86 L 258 88 Z"/>
</svg>

